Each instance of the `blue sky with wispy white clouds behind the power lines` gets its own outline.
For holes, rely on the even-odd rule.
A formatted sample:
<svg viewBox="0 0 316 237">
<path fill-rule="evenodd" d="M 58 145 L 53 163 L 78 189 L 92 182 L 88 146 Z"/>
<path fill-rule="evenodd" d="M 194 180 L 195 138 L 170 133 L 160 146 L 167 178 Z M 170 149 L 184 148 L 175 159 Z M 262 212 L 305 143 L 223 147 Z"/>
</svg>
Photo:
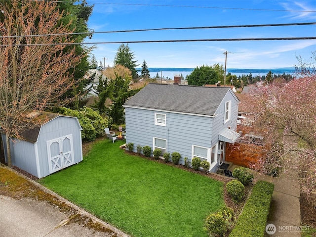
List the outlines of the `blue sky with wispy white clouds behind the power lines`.
<svg viewBox="0 0 316 237">
<path fill-rule="evenodd" d="M 316 22 L 316 0 L 87 0 L 87 2 L 94 4 L 88 27 L 95 32 Z M 316 25 L 307 25 L 94 34 L 92 39 L 86 42 L 315 36 Z M 92 54 L 98 62 L 100 60 L 104 62 L 102 58 L 105 57 L 106 65 L 113 66 L 119 45 L 97 44 Z M 149 67 L 195 68 L 214 63 L 225 65 L 223 52 L 228 51 L 231 53 L 227 54 L 227 68 L 273 69 L 295 66 L 298 64 L 297 56 L 309 60 L 312 51 L 316 50 L 316 40 L 132 43 L 129 47 L 140 66 L 144 60 Z"/>
</svg>

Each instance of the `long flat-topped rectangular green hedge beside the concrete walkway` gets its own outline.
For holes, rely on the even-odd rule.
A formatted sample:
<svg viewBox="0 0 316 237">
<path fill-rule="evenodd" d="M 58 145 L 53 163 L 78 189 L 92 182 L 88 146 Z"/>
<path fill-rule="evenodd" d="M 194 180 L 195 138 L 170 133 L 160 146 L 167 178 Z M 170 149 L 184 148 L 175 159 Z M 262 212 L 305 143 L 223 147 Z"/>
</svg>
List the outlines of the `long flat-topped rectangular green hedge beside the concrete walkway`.
<svg viewBox="0 0 316 237">
<path fill-rule="evenodd" d="M 229 237 L 264 237 L 275 185 L 258 181 Z"/>
</svg>

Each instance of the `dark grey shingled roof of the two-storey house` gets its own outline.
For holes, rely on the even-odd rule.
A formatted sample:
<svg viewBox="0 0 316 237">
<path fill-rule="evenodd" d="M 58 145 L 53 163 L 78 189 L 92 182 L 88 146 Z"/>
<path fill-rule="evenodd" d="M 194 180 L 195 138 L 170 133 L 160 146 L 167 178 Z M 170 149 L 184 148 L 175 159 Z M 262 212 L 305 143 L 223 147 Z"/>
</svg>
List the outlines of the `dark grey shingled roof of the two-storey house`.
<svg viewBox="0 0 316 237">
<path fill-rule="evenodd" d="M 229 90 L 229 87 L 149 84 L 124 105 L 213 116 Z"/>
</svg>

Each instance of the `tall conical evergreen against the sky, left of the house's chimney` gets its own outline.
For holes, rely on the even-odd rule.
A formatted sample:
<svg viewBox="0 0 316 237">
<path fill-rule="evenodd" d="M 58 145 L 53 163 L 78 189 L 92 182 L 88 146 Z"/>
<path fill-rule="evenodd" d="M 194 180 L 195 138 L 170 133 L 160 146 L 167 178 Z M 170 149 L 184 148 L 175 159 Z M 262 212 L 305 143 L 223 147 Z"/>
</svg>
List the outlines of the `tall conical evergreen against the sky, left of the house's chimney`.
<svg viewBox="0 0 316 237">
<path fill-rule="evenodd" d="M 130 50 L 128 44 L 126 44 L 126 46 L 124 44 L 121 44 L 118 47 L 117 54 L 115 55 L 114 65 L 119 64 L 124 67 L 127 67 L 132 72 L 133 80 L 136 80 L 138 77 L 136 67 L 139 64 L 136 64 L 137 60 L 134 60 L 134 58 L 135 58 L 134 52 Z"/>
</svg>

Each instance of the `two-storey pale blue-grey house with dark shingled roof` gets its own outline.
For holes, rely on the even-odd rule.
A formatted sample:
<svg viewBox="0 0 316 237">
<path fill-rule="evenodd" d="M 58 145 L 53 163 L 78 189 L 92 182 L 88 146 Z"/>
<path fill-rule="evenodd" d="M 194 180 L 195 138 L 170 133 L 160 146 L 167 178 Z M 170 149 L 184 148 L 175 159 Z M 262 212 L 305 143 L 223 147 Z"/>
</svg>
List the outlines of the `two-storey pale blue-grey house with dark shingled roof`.
<svg viewBox="0 0 316 237">
<path fill-rule="evenodd" d="M 239 138 L 238 102 L 229 87 L 149 84 L 124 104 L 126 143 L 179 152 L 180 164 L 198 157 L 215 172 Z"/>
</svg>

